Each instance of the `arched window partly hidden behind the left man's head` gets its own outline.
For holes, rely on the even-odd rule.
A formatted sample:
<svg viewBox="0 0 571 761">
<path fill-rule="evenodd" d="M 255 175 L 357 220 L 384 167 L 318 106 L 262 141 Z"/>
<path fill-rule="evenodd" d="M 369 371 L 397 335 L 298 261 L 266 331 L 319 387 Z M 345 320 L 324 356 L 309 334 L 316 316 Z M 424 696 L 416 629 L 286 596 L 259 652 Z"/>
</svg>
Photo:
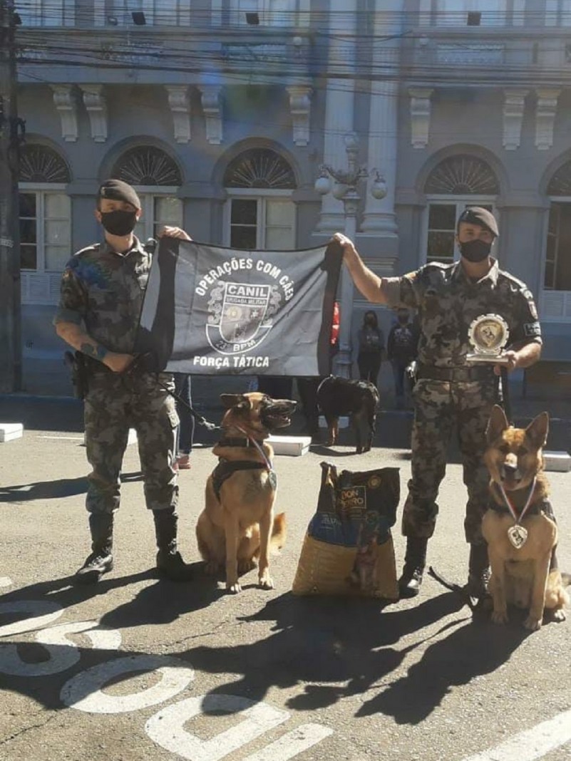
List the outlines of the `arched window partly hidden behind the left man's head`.
<svg viewBox="0 0 571 761">
<path fill-rule="evenodd" d="M 142 205 L 137 237 L 157 237 L 165 224 L 183 227 L 183 202 L 177 191 L 183 180 L 177 163 L 161 148 L 140 145 L 129 148 L 113 164 L 111 177 L 136 188 Z"/>
</svg>

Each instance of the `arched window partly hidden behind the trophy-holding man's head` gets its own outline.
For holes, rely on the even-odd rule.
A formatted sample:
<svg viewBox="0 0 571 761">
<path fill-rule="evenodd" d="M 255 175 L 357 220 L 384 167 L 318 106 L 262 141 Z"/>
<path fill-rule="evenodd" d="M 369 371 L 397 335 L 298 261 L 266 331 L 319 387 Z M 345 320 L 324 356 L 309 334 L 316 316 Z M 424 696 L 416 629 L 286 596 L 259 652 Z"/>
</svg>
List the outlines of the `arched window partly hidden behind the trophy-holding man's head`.
<svg viewBox="0 0 571 761">
<path fill-rule="evenodd" d="M 461 154 L 441 161 L 424 186 L 429 201 L 426 214 L 423 259 L 451 263 L 455 259 L 458 217 L 467 206 L 494 211 L 499 183 L 486 161 Z"/>
</svg>

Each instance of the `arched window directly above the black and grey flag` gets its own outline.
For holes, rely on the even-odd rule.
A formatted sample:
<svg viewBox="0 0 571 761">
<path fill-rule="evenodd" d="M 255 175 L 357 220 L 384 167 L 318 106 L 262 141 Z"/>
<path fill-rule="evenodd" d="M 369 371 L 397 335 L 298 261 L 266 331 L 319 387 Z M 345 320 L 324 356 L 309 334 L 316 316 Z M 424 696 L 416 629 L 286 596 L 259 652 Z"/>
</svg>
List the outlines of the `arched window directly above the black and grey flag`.
<svg viewBox="0 0 571 761">
<path fill-rule="evenodd" d="M 270 148 L 250 148 L 229 164 L 225 243 L 248 250 L 295 248 L 295 174 Z"/>
</svg>

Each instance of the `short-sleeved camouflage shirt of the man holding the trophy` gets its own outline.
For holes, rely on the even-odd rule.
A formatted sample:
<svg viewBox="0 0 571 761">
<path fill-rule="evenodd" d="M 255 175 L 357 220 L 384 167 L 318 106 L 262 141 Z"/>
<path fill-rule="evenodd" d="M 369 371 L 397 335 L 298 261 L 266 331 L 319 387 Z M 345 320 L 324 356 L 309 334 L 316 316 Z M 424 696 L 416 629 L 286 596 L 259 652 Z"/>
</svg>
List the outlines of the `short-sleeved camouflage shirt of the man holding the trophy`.
<svg viewBox="0 0 571 761">
<path fill-rule="evenodd" d="M 521 280 L 499 269 L 473 282 L 460 262 L 430 263 L 388 278 L 388 304 L 418 310 L 418 359 L 424 365 L 448 368 L 466 364 L 471 352 L 468 329 L 483 314 L 499 314 L 509 327 L 509 344 L 541 343 L 541 327 L 531 291 Z"/>
</svg>

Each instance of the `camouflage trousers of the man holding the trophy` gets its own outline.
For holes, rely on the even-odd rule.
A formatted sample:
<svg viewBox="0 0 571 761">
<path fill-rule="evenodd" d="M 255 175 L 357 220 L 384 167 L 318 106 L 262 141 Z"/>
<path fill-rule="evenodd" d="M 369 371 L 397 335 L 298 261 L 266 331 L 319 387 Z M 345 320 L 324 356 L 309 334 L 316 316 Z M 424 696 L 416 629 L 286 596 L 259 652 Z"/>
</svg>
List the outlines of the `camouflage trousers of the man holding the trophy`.
<svg viewBox="0 0 571 761">
<path fill-rule="evenodd" d="M 464 533 L 467 542 L 482 543 L 481 523 L 489 501 L 490 482 L 483 453 L 486 425 L 496 403 L 496 384 L 422 378 L 416 382 L 413 399 L 411 478 L 403 511 L 404 536 L 432 537 L 448 442 L 456 428 L 468 492 Z"/>
</svg>

